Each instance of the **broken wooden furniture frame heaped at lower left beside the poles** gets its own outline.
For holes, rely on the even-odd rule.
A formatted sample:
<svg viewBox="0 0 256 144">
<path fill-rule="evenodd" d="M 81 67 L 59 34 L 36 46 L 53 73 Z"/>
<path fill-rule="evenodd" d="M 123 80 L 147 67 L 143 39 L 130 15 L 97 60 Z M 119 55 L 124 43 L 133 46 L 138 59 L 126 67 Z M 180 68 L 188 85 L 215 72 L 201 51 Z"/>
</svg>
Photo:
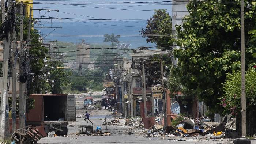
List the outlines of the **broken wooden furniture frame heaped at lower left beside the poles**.
<svg viewBox="0 0 256 144">
<path fill-rule="evenodd" d="M 20 144 L 35 144 L 42 137 L 44 137 L 41 133 L 39 133 L 34 127 L 28 125 L 24 128 L 20 128 L 14 131 L 11 136 L 11 140 Z"/>
</svg>

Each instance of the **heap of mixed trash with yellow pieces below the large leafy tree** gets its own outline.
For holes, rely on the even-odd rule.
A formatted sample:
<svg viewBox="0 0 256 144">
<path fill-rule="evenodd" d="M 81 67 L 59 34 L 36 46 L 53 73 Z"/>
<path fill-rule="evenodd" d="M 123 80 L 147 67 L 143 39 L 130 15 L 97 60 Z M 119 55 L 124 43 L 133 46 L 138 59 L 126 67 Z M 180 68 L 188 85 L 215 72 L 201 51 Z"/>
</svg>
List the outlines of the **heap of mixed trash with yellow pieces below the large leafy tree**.
<svg viewBox="0 0 256 144">
<path fill-rule="evenodd" d="M 159 118 L 156 117 L 155 121 L 157 123 Z M 191 119 L 185 117 L 175 128 L 173 126 L 164 128 L 162 125 L 155 124 L 151 129 L 143 130 L 141 128 L 139 131 L 141 134 L 146 134 L 146 137 L 191 137 L 207 135 L 210 138 L 222 138 L 225 135 L 226 129 L 225 123 L 210 122 L 210 120 L 205 118 Z"/>
</svg>

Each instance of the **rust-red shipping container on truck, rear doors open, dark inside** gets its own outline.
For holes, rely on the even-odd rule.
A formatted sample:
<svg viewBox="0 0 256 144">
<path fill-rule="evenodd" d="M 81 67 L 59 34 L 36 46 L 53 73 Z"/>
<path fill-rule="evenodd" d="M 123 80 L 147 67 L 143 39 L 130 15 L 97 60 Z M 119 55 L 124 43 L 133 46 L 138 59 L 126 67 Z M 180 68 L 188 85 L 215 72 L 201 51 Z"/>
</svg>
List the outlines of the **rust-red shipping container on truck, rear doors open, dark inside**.
<svg viewBox="0 0 256 144">
<path fill-rule="evenodd" d="M 44 125 L 45 132 L 67 134 L 68 121 L 76 121 L 75 96 L 67 94 L 31 94 L 35 107 L 26 114 L 26 125 Z"/>
</svg>

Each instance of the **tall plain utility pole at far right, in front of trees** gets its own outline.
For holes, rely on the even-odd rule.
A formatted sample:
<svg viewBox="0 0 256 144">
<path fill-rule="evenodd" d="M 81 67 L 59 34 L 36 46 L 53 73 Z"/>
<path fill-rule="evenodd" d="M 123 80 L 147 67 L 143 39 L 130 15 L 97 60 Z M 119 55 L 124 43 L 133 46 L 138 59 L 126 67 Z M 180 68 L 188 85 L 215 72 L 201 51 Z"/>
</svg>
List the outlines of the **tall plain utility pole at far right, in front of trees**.
<svg viewBox="0 0 256 144">
<path fill-rule="evenodd" d="M 246 136 L 246 95 L 245 95 L 245 42 L 244 42 L 244 0 L 241 0 L 241 114 L 242 136 Z"/>
</svg>

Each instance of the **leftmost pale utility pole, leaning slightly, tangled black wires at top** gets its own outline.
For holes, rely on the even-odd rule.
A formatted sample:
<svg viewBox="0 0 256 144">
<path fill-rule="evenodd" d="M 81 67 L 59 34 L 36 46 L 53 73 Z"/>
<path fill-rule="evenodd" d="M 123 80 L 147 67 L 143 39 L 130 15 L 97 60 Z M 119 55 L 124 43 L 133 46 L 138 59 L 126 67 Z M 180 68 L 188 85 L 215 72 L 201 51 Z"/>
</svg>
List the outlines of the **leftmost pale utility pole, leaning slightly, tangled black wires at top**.
<svg viewBox="0 0 256 144">
<path fill-rule="evenodd" d="M 2 23 L 5 22 L 5 10 L 4 10 L 4 0 L 1 0 L 2 7 Z M 8 11 L 12 7 L 10 1 L 8 1 L 7 10 L 7 20 L 10 16 Z M 9 102 L 8 102 L 8 62 L 10 53 L 10 41 L 11 41 L 11 31 L 8 31 L 8 41 L 6 38 L 3 39 L 3 83 L 2 83 L 2 93 L 1 93 L 1 107 L 0 107 L 0 140 L 6 140 L 9 137 Z"/>
</svg>

